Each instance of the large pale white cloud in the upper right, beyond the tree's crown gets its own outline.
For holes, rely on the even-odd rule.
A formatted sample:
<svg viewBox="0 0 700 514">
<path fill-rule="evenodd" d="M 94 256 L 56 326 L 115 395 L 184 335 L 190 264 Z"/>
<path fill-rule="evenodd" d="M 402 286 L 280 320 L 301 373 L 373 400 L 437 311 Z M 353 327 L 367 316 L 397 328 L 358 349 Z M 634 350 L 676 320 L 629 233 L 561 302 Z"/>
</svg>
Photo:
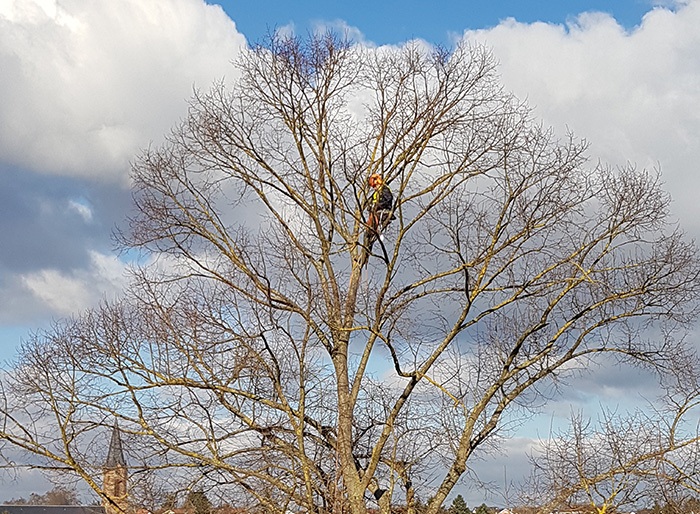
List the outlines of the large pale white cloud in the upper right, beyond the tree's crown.
<svg viewBox="0 0 700 514">
<path fill-rule="evenodd" d="M 591 155 L 660 167 L 674 214 L 700 235 L 700 2 L 657 7 L 631 31 L 601 13 L 563 25 L 509 19 L 463 37 L 492 48 L 506 87 Z"/>
</svg>

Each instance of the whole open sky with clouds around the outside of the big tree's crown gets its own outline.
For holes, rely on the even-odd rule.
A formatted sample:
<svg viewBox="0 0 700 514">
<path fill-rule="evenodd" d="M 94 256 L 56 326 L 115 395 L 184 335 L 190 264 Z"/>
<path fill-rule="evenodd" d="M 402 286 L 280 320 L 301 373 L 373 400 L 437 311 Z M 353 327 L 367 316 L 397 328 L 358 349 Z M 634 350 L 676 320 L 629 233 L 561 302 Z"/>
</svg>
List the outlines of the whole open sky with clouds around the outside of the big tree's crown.
<svg viewBox="0 0 700 514">
<path fill-rule="evenodd" d="M 700 239 L 700 0 L 0 0 L 0 360 L 119 294 L 111 233 L 131 205 L 129 162 L 182 118 L 193 86 L 232 77 L 270 29 L 319 26 L 370 45 L 487 45 L 505 87 L 586 138 L 591 159 L 660 168 L 673 216 Z M 494 479 L 572 408 L 653 391 L 624 370 L 577 382 L 506 443 Z M 38 488 L 0 480 L 0 502 Z"/>
</svg>

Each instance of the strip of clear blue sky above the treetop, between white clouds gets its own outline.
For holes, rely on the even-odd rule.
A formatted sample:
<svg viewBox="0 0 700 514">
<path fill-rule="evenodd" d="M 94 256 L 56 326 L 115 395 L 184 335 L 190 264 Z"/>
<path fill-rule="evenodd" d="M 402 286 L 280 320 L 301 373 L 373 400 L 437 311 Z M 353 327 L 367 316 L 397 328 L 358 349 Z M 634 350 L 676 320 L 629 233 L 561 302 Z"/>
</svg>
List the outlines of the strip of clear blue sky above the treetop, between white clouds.
<svg viewBox="0 0 700 514">
<path fill-rule="evenodd" d="M 318 23 L 342 21 L 357 27 L 370 41 L 397 44 L 422 38 L 449 45 L 454 34 L 498 25 L 506 18 L 523 23 L 563 24 L 586 11 L 611 14 L 624 27 L 639 25 L 652 6 L 650 0 L 435 0 L 435 1 L 284 1 L 264 3 L 226 0 L 221 5 L 250 42 L 270 29 L 293 25 L 303 34 Z M 262 8 L 261 8 L 262 6 Z"/>
</svg>

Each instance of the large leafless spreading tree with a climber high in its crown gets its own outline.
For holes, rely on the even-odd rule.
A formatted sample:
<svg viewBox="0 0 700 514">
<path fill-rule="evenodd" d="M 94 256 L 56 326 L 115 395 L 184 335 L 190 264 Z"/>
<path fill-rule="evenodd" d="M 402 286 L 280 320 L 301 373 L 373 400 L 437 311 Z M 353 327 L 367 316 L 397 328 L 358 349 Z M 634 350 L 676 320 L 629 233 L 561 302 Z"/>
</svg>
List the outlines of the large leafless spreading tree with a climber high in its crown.
<svg viewBox="0 0 700 514">
<path fill-rule="evenodd" d="M 116 416 L 132 468 L 173 487 L 353 514 L 429 487 L 435 514 L 577 363 L 683 359 L 699 268 L 658 175 L 590 165 L 483 48 L 276 36 L 238 70 L 135 161 L 121 241 L 151 261 L 25 343 L 6 445 L 99 491 Z"/>
</svg>

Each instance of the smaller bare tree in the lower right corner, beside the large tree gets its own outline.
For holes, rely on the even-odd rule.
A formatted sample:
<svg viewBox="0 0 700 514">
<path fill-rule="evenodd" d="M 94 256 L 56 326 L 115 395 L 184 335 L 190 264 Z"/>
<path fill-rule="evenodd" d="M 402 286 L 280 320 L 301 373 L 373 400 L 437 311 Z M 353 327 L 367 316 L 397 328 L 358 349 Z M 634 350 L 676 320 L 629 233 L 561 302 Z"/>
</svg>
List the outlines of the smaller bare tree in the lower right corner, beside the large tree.
<svg viewBox="0 0 700 514">
<path fill-rule="evenodd" d="M 604 411 L 595 424 L 572 416 L 568 431 L 542 441 L 533 457 L 527 498 L 541 512 L 585 505 L 605 514 L 652 504 L 684 512 L 700 492 L 700 434 L 697 384 L 682 382 L 646 409 Z"/>
</svg>

